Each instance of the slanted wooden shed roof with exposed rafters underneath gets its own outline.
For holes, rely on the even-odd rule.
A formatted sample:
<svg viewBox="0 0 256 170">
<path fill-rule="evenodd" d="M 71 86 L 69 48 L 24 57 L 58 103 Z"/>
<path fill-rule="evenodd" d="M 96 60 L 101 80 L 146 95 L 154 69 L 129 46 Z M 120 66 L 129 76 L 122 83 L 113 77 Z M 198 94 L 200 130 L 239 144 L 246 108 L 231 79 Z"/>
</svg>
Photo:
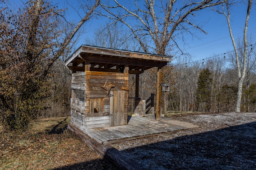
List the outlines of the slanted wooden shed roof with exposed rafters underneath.
<svg viewBox="0 0 256 170">
<path fill-rule="evenodd" d="M 82 63 L 90 64 L 92 70 L 128 66 L 131 73 L 134 70 L 132 74 L 138 74 L 138 71 L 163 67 L 171 61 L 172 57 L 168 56 L 82 45 L 65 61 L 65 66 L 73 71 L 84 71 Z"/>
</svg>

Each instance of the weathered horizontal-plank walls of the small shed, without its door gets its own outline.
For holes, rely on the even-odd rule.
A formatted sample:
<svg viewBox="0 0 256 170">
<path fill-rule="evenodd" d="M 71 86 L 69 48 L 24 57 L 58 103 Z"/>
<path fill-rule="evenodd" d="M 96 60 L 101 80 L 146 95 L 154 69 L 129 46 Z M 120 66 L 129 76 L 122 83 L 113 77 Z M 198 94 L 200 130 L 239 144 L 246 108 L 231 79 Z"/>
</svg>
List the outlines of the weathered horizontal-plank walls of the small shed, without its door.
<svg viewBox="0 0 256 170">
<path fill-rule="evenodd" d="M 128 117 L 128 73 L 86 71 L 72 74 L 71 88 L 84 91 L 84 101 L 70 99 L 71 123 L 82 129 L 108 127 L 111 123 L 110 90 L 124 90 L 121 124 Z M 119 102 L 119 101 L 118 101 Z"/>
</svg>

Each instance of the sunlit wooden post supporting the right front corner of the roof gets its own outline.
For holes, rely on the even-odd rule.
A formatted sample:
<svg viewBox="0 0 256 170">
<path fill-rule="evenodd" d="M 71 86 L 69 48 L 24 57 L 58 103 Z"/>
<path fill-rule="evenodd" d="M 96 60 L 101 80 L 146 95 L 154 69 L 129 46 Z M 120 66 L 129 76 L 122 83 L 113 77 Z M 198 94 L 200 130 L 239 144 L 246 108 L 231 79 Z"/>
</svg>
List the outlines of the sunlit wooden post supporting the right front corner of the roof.
<svg viewBox="0 0 256 170">
<path fill-rule="evenodd" d="M 156 90 L 156 121 L 160 121 L 161 116 L 161 90 L 162 90 L 162 67 L 157 68 L 157 90 Z"/>
</svg>

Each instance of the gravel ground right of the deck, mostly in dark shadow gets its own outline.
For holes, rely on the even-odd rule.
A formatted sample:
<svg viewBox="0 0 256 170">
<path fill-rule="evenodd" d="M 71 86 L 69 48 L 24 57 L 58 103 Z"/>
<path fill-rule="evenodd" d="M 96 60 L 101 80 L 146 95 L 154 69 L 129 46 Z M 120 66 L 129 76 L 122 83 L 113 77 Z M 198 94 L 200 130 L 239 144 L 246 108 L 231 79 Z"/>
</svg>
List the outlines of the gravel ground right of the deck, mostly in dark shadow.
<svg viewBox="0 0 256 170">
<path fill-rule="evenodd" d="M 174 119 L 200 127 L 113 146 L 148 170 L 256 169 L 256 113 L 189 115 Z"/>
</svg>

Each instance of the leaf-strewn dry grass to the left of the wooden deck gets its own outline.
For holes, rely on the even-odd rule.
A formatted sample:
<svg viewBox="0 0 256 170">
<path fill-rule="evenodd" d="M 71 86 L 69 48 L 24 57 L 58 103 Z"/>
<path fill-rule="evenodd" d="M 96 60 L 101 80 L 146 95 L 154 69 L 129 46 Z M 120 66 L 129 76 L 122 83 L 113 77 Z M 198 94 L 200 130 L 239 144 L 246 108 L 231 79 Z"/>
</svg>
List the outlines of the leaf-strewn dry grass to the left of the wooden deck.
<svg viewBox="0 0 256 170">
<path fill-rule="evenodd" d="M 70 117 L 32 122 L 24 133 L 0 127 L 0 169 L 114 169 L 69 133 Z"/>
</svg>

